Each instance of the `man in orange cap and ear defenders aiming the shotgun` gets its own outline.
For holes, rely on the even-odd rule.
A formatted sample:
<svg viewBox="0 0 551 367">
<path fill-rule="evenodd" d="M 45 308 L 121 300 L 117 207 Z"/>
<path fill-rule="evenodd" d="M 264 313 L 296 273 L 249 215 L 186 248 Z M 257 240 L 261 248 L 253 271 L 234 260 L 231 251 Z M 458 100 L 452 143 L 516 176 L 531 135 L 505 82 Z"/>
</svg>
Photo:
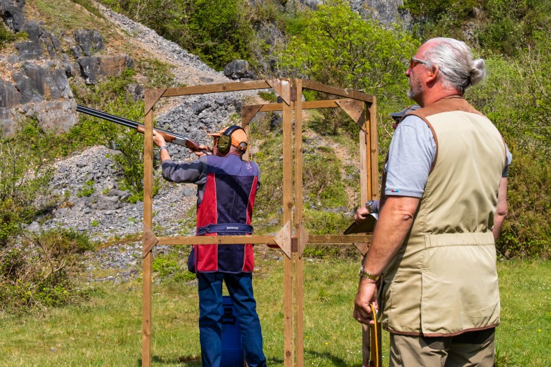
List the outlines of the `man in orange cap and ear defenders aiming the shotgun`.
<svg viewBox="0 0 551 367">
<path fill-rule="evenodd" d="M 260 170 L 256 162 L 242 160 L 247 134 L 230 126 L 215 134 L 209 154 L 196 152 L 189 163 L 173 162 L 163 136 L 154 132 L 160 149 L 163 178 L 198 186 L 197 235 L 246 235 L 253 232 L 251 218 Z M 199 330 L 202 366 L 220 365 L 222 332 L 222 282 L 225 282 L 241 328 L 245 359 L 250 367 L 266 366 L 262 331 L 253 296 L 254 267 L 251 244 L 195 245 L 188 259 L 199 287 Z"/>
</svg>

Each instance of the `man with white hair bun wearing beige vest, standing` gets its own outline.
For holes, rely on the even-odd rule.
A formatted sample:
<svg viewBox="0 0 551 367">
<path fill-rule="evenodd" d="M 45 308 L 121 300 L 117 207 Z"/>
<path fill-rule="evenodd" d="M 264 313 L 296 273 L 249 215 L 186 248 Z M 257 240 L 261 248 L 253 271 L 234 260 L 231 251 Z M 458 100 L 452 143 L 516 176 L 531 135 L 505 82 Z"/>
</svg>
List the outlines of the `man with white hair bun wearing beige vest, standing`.
<svg viewBox="0 0 551 367">
<path fill-rule="evenodd" d="M 406 71 L 408 97 L 422 108 L 402 118 L 391 141 L 353 312 L 368 324 L 370 303 L 382 311 L 391 366 L 494 364 L 495 241 L 512 157 L 463 98 L 485 74 L 464 42 L 444 38 L 424 43 Z M 362 207 L 355 219 L 367 214 Z"/>
</svg>

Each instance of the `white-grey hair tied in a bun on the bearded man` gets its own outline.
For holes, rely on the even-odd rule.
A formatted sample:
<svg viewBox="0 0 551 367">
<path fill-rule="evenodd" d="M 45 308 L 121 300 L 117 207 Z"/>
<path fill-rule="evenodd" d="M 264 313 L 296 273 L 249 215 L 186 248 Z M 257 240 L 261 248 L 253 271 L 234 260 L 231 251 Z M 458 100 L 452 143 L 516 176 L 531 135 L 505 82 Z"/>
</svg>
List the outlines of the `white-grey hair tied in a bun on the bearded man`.
<svg viewBox="0 0 551 367">
<path fill-rule="evenodd" d="M 444 87 L 454 87 L 464 93 L 486 76 L 483 59 L 472 59 L 472 52 L 463 41 L 449 38 L 430 39 L 435 43 L 424 52 L 422 58 L 430 65 L 438 65 Z"/>
</svg>

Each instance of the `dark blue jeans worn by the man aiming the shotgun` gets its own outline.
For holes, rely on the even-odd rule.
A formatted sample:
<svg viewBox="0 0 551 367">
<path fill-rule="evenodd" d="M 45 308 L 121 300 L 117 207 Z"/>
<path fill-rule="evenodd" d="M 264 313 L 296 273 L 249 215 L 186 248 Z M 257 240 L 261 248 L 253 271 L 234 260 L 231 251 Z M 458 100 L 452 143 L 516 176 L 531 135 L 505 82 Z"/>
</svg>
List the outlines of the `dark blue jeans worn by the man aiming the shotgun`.
<svg viewBox="0 0 551 367">
<path fill-rule="evenodd" d="M 199 282 L 199 337 L 203 367 L 220 366 L 222 345 L 222 280 L 236 309 L 245 359 L 249 367 L 266 366 L 262 330 L 256 313 L 251 273 L 197 273 Z"/>
</svg>

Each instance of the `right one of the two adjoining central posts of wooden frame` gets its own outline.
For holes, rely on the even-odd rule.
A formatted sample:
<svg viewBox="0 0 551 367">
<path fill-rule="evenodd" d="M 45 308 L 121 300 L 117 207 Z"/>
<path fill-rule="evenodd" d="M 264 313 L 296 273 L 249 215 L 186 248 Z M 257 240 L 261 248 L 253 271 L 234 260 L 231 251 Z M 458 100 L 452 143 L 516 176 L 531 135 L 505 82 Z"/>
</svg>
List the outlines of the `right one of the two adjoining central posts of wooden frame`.
<svg viewBox="0 0 551 367">
<path fill-rule="evenodd" d="M 295 79 L 293 96 L 296 96 L 295 107 L 295 235 L 302 230 L 302 80 Z M 304 367 L 304 304 L 303 262 L 302 253 L 293 253 L 295 258 L 295 337 L 296 367 Z"/>
</svg>

